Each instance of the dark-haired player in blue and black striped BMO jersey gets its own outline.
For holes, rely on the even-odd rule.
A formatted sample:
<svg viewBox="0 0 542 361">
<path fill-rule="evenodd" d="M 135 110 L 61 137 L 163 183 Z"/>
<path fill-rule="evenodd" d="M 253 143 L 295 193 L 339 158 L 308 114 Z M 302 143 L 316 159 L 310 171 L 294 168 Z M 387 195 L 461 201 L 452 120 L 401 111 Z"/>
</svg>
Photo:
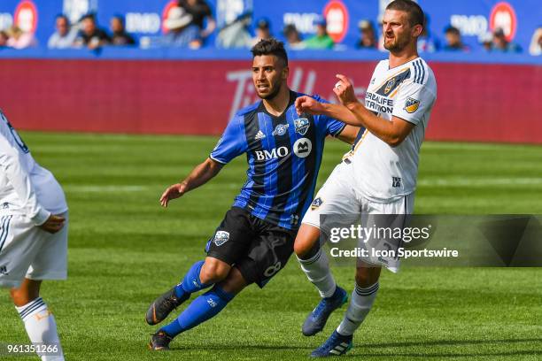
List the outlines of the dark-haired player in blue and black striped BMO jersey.
<svg viewBox="0 0 542 361">
<path fill-rule="evenodd" d="M 252 80 L 261 100 L 238 111 L 205 162 L 160 198 L 166 207 L 246 154 L 247 180 L 207 242 L 205 260 L 192 265 L 177 286 L 151 303 L 146 320 L 156 325 L 191 294 L 210 290 L 153 334 L 151 349 L 168 349 L 174 336 L 211 319 L 246 286 L 256 283 L 263 288 L 283 269 L 300 220 L 313 201 L 326 136 L 352 143 L 359 133 L 358 127 L 336 119 L 297 114 L 295 101 L 303 94 L 288 88 L 282 42 L 262 40 L 252 55 Z"/>
</svg>

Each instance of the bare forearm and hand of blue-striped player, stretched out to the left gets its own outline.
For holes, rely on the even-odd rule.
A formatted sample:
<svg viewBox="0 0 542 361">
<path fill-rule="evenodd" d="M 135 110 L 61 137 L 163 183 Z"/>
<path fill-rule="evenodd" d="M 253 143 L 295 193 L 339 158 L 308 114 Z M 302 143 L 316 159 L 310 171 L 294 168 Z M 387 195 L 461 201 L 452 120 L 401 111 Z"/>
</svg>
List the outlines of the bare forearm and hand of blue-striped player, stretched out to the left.
<svg viewBox="0 0 542 361">
<path fill-rule="evenodd" d="M 160 196 L 160 204 L 167 207 L 170 200 L 179 198 L 189 190 L 205 184 L 221 171 L 222 166 L 221 163 L 215 162 L 211 158 L 205 159 L 205 162 L 197 165 L 181 183 L 166 188 L 162 196 Z"/>
</svg>

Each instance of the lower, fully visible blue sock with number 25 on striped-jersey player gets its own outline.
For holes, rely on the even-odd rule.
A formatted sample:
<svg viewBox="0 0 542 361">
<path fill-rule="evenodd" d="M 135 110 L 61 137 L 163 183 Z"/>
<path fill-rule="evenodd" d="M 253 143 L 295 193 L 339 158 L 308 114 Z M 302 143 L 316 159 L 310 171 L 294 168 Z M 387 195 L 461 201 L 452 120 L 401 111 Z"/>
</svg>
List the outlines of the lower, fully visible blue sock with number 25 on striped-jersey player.
<svg viewBox="0 0 542 361">
<path fill-rule="evenodd" d="M 162 327 L 161 330 L 171 337 L 190 330 L 190 328 L 216 316 L 234 297 L 235 295 L 214 286 L 211 290 L 192 301 L 177 319 Z"/>
</svg>

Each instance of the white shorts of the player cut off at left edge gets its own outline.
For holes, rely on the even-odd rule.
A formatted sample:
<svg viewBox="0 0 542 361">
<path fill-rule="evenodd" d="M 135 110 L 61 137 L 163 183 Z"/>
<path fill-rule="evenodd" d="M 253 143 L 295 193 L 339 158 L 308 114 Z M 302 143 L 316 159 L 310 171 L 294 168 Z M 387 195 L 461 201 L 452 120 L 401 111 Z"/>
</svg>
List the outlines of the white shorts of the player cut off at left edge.
<svg viewBox="0 0 542 361">
<path fill-rule="evenodd" d="M 50 234 L 19 215 L 0 217 L 0 287 L 17 288 L 24 278 L 66 280 L 68 213 L 64 227 Z"/>
</svg>

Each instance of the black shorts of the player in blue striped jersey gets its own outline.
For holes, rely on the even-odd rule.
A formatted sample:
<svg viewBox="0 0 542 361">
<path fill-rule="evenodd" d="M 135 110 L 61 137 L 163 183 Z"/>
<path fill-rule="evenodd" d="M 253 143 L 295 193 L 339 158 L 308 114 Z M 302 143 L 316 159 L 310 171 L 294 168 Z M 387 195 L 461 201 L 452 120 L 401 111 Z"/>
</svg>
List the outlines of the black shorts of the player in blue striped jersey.
<svg viewBox="0 0 542 361">
<path fill-rule="evenodd" d="M 207 242 L 205 251 L 208 257 L 235 265 L 244 280 L 263 288 L 288 262 L 297 233 L 232 207 Z"/>
</svg>

